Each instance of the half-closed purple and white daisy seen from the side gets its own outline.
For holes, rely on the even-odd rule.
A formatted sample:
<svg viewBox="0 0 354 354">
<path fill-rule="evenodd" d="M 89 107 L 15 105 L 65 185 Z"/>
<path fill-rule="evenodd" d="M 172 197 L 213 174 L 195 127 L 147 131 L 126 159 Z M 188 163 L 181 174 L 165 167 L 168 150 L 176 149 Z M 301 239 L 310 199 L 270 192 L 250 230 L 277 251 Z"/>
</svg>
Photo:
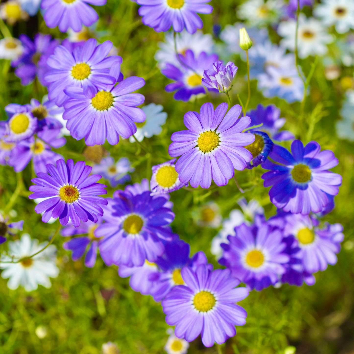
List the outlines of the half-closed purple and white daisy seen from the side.
<svg viewBox="0 0 354 354">
<path fill-rule="evenodd" d="M 201 79 L 201 82 L 208 89 L 215 89 L 220 93 L 228 92 L 232 89 L 237 69 L 233 62 L 228 62 L 224 66 L 221 61 L 217 61 L 212 69 L 204 70 L 204 79 Z"/>
</svg>

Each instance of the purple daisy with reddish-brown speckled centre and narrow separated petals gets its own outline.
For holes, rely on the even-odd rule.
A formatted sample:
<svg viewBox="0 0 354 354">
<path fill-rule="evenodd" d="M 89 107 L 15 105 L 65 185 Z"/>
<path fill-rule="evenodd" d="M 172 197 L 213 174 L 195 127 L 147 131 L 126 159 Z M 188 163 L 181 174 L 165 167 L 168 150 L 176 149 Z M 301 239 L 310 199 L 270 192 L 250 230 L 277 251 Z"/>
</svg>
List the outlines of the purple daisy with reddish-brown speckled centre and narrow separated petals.
<svg viewBox="0 0 354 354">
<path fill-rule="evenodd" d="M 33 178 L 29 190 L 34 192 L 28 198 L 47 198 L 40 202 L 34 210 L 42 215 L 42 221 L 48 222 L 51 217 L 66 225 L 69 219 L 75 227 L 80 226 L 80 220 L 98 221 L 98 216 L 103 215 L 99 206 L 107 205 L 107 200 L 98 195 L 107 194 L 104 184 L 96 183 L 100 175 L 90 175 L 92 167 L 86 166 L 84 161 L 74 164 L 72 159 L 58 160 L 56 166 L 48 164 L 46 173 L 38 173 Z"/>
</svg>

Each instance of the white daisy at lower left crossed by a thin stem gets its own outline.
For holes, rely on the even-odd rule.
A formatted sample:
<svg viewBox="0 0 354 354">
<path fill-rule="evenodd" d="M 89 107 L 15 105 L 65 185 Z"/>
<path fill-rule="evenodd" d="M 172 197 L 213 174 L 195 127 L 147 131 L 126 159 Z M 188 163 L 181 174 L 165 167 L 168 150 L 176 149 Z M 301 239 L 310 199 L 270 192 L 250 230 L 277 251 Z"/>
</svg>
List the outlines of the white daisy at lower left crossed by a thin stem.
<svg viewBox="0 0 354 354">
<path fill-rule="evenodd" d="M 8 242 L 8 254 L 14 260 L 33 255 L 43 249 L 48 242 L 38 243 L 38 240 L 31 239 L 29 234 L 23 234 L 21 240 Z M 36 290 L 38 285 L 46 288 L 51 287 L 50 278 L 56 278 L 59 269 L 55 265 L 56 246 L 50 245 L 38 255 L 23 259 L 19 263 L 5 263 L 11 261 L 11 257 L 2 255 L 0 258 L 0 268 L 4 269 L 1 277 L 10 278 L 7 287 L 15 290 L 19 285 L 23 286 L 26 291 Z"/>
</svg>

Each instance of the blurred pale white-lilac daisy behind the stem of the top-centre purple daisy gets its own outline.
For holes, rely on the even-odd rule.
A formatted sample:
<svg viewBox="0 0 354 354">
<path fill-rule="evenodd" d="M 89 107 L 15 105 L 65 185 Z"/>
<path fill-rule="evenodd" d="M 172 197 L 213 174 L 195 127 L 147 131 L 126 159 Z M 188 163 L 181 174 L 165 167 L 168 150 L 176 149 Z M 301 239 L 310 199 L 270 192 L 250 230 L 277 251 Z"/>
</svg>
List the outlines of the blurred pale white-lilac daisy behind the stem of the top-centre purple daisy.
<svg viewBox="0 0 354 354">
<path fill-rule="evenodd" d="M 213 52 L 214 42 L 211 34 L 203 34 L 197 31 L 194 34 L 188 33 L 184 30 L 176 34 L 176 46 L 179 54 L 185 54 L 187 49 L 193 51 L 194 56 L 198 57 L 201 52 L 211 54 Z M 175 40 L 172 32 L 166 32 L 165 41 L 159 43 L 160 49 L 155 54 L 155 60 L 159 63 L 159 68 L 164 69 L 166 63 L 181 66 L 178 61 L 175 51 Z"/>
</svg>

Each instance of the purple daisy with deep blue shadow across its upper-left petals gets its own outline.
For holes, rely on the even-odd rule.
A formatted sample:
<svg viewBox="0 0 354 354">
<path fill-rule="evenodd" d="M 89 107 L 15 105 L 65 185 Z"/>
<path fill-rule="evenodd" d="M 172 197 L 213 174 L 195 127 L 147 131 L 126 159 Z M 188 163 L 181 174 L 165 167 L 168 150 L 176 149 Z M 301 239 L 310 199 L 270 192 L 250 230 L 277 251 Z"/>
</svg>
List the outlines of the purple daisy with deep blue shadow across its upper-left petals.
<svg viewBox="0 0 354 354">
<path fill-rule="evenodd" d="M 276 164 L 265 161 L 262 167 L 264 187 L 269 190 L 272 203 L 284 211 L 308 215 L 318 213 L 329 204 L 327 194 L 337 195 L 342 176 L 328 171 L 338 165 L 338 159 L 330 150 L 321 151 L 320 145 L 309 142 L 305 147 L 295 140 L 292 154 L 285 148 L 274 145 L 270 158 Z"/>
</svg>

